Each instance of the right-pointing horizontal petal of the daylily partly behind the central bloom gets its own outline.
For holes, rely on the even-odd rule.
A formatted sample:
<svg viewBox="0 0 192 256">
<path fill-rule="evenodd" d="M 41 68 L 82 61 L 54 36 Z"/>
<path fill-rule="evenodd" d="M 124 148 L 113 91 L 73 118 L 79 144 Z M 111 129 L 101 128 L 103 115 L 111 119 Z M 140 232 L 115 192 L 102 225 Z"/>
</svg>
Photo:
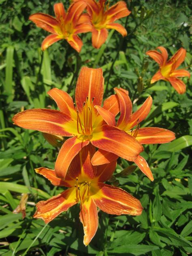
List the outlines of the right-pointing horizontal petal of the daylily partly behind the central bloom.
<svg viewBox="0 0 192 256">
<path fill-rule="evenodd" d="M 136 137 L 141 144 L 168 143 L 175 139 L 175 133 L 158 127 L 140 128 Z"/>
</svg>

